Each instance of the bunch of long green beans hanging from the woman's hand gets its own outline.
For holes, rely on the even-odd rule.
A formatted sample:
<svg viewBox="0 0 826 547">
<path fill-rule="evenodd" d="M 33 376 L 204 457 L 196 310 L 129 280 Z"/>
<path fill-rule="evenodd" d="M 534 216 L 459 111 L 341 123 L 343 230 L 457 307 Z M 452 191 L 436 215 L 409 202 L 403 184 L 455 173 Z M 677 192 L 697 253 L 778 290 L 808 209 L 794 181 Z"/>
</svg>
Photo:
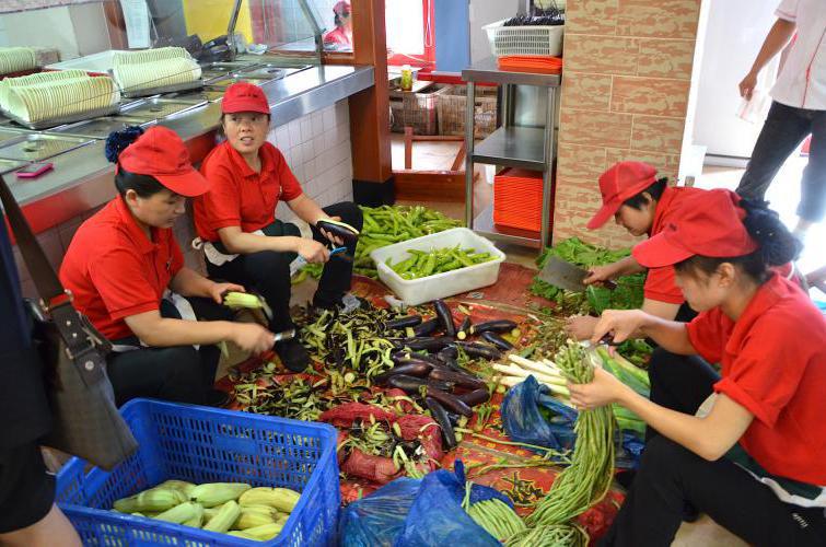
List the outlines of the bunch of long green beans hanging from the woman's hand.
<svg viewBox="0 0 826 547">
<path fill-rule="evenodd" d="M 557 366 L 573 383 L 586 384 L 594 370 L 574 341 L 559 350 Z M 577 444 L 571 465 L 562 470 L 526 522 L 531 526 L 563 524 L 583 513 L 608 491 L 614 474 L 614 417 L 610 407 L 582 410 L 574 426 Z"/>
</svg>

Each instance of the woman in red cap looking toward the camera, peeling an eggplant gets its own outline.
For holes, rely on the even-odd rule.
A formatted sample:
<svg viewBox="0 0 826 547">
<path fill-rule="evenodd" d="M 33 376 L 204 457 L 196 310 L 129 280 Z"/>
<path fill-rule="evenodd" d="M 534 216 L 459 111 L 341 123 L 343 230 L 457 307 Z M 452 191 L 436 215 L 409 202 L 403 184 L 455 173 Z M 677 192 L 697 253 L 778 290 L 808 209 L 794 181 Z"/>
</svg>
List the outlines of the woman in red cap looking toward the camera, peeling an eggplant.
<svg viewBox="0 0 826 547">
<path fill-rule="evenodd" d="M 290 318 L 290 263 L 301 255 L 310 263 L 326 263 L 313 305 L 333 309 L 350 288 L 352 263 L 329 260 L 328 243 L 344 242 L 316 226 L 325 219 L 344 220 L 358 233 L 361 210 L 351 202 L 322 209 L 304 195 L 281 152 L 267 142 L 269 104 L 257 85 L 231 85 L 221 102 L 221 125 L 226 141 L 203 160 L 201 172 L 210 182 L 195 201 L 195 226 L 205 243 L 207 270 L 259 292 L 272 310 L 270 329 L 294 328 Z M 301 237 L 292 223 L 276 220 L 279 200 L 312 228 L 313 238 Z M 347 242 L 353 256 L 356 237 Z M 329 260 L 329 261 L 328 261 Z M 303 371 L 310 356 L 296 340 L 276 345 L 281 362 Z"/>
</svg>

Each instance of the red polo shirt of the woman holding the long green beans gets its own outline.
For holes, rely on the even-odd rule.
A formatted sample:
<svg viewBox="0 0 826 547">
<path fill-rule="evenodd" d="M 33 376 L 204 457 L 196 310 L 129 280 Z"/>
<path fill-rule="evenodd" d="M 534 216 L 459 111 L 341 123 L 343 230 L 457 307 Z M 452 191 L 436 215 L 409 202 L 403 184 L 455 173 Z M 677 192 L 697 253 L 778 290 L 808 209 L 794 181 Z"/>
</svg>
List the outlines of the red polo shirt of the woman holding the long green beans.
<svg viewBox="0 0 826 547">
<path fill-rule="evenodd" d="M 736 323 L 710 310 L 688 336 L 722 364 L 714 391 L 755 417 L 743 449 L 773 475 L 826 485 L 826 319 L 808 296 L 775 275 Z"/>
</svg>

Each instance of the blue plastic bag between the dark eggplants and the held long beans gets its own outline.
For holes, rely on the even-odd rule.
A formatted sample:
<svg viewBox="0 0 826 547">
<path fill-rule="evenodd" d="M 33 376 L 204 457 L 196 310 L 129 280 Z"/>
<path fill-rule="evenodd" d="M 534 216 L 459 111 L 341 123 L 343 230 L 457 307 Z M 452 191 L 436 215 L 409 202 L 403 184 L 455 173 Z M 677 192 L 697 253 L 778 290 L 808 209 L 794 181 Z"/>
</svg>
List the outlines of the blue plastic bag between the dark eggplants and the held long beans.
<svg viewBox="0 0 826 547">
<path fill-rule="evenodd" d="M 546 409 L 550 420 L 542 409 Z M 511 387 L 502 403 L 504 431 L 516 442 L 570 450 L 577 440 L 575 422 L 577 410 L 554 399 L 548 386 L 539 384 L 534 376 Z"/>
</svg>

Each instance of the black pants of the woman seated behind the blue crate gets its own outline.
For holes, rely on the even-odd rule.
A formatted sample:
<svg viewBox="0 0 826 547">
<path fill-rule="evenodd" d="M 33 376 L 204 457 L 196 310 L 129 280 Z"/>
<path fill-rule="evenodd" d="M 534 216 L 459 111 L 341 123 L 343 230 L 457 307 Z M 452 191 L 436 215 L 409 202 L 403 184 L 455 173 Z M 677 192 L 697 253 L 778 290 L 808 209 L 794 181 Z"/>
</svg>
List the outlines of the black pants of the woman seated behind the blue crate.
<svg viewBox="0 0 826 547">
<path fill-rule="evenodd" d="M 232 312 L 211 299 L 187 299 L 199 321 L 230 321 Z M 181 318 L 167 301 L 161 302 L 161 315 Z M 115 344 L 137 346 L 137 338 Z M 106 358 L 106 370 L 115 389 L 118 406 L 136 397 L 150 397 L 176 403 L 203 405 L 216 382 L 221 350 L 217 346 L 172 346 L 113 352 Z"/>
</svg>

